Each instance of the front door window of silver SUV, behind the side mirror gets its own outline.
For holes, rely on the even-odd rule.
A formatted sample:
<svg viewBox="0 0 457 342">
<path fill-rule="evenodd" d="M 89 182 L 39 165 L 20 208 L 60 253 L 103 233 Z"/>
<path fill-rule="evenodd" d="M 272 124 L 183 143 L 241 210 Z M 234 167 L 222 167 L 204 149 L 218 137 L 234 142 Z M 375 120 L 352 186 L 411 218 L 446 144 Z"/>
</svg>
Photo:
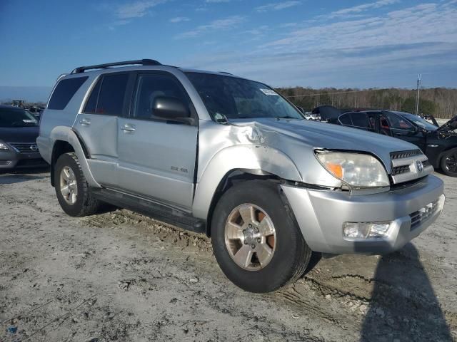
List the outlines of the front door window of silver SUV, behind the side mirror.
<svg viewBox="0 0 457 342">
<path fill-rule="evenodd" d="M 189 104 L 189 100 L 178 81 L 172 76 L 164 74 L 140 75 L 136 84 L 136 96 L 134 103 L 134 118 L 154 119 L 153 105 L 158 96 L 171 96 L 179 98 L 183 103 Z"/>
</svg>

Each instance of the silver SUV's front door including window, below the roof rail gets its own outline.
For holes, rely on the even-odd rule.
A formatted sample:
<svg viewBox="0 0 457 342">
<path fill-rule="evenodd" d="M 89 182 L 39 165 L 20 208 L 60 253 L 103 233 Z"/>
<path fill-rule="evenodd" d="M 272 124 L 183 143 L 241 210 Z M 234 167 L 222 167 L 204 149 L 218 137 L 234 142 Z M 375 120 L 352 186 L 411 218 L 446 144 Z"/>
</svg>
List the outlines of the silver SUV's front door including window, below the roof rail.
<svg viewBox="0 0 457 342">
<path fill-rule="evenodd" d="M 190 209 L 194 197 L 198 125 L 167 122 L 156 117 L 152 104 L 157 96 L 179 98 L 196 118 L 189 95 L 171 73 L 138 73 L 130 117 L 119 119 L 119 187 Z"/>
</svg>

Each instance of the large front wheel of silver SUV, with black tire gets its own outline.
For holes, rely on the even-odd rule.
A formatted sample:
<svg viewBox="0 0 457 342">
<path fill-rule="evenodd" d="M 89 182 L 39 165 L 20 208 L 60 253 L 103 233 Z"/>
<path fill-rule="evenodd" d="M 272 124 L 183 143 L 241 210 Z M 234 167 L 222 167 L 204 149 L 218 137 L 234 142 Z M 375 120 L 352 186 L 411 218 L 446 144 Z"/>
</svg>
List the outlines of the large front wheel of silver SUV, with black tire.
<svg viewBox="0 0 457 342">
<path fill-rule="evenodd" d="M 241 212 L 246 214 L 246 207 L 244 206 L 248 204 L 252 204 L 251 213 L 254 212 L 251 217 L 253 215 L 253 217 L 257 217 L 254 221 L 261 222 L 252 224 L 254 234 L 258 232 L 258 227 L 263 227 L 260 231 L 262 233 L 268 230 L 264 228 L 268 223 L 273 224 L 273 229 L 269 228 L 269 231 L 273 230 L 275 234 L 265 238 L 268 247 L 273 251 L 270 259 L 262 257 L 262 254 L 263 256 L 269 254 L 256 252 L 257 250 L 261 252 L 264 248 L 260 246 L 264 244 L 263 237 L 261 242 L 258 240 L 259 238 L 254 238 L 254 242 L 258 242 L 258 244 L 249 242 L 252 239 L 251 228 L 246 228 L 246 222 L 241 215 Z M 267 223 L 264 224 L 266 219 Z M 236 224 L 236 228 L 233 229 L 236 234 L 239 232 L 238 226 L 241 226 L 242 230 L 239 233 L 241 238 L 239 240 L 237 238 L 226 239 L 228 220 Z M 273 240 L 271 240 L 272 236 Z M 227 190 L 214 209 L 211 238 L 214 255 L 224 274 L 233 284 L 250 292 L 271 292 L 286 284 L 293 283 L 304 273 L 311 257 L 311 249 L 303 239 L 291 209 L 281 199 L 278 185 L 268 181 L 241 182 Z M 252 248 L 253 257 L 251 258 L 249 257 L 250 254 L 246 254 L 248 266 L 246 264 L 240 266 L 235 261 L 238 259 L 235 255 L 241 251 L 241 248 L 246 251 L 246 247 Z M 240 259 L 244 260 L 245 258 L 240 257 Z M 261 259 L 264 261 L 263 265 L 260 263 Z"/>
</svg>

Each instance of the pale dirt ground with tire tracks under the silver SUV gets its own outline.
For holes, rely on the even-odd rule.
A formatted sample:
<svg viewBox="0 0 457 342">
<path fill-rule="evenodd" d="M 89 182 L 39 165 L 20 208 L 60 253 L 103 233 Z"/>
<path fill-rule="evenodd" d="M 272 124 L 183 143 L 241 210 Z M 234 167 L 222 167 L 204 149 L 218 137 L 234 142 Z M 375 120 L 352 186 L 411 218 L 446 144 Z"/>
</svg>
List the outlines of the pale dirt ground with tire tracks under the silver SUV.
<svg viewBox="0 0 457 342">
<path fill-rule="evenodd" d="M 49 173 L 0 175 L 0 341 L 456 341 L 457 179 L 383 257 L 313 255 L 273 294 L 228 281 L 209 239 L 127 210 L 75 219 Z"/>
</svg>

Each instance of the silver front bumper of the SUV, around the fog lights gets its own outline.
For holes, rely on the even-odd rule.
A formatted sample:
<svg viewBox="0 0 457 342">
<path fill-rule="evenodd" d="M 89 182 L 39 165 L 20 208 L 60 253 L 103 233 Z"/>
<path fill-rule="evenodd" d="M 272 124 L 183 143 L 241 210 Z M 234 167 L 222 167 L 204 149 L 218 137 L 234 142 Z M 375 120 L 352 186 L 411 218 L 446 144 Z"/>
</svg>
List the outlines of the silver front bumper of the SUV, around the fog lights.
<svg viewBox="0 0 457 342">
<path fill-rule="evenodd" d="M 315 252 L 329 254 L 396 251 L 430 226 L 444 205 L 443 181 L 433 175 L 410 187 L 374 195 L 351 195 L 350 192 L 289 185 L 281 187 L 308 246 Z M 436 202 L 436 209 L 411 227 L 410 215 L 433 202 Z M 344 222 L 386 221 L 392 224 L 385 237 L 343 237 Z"/>
</svg>

